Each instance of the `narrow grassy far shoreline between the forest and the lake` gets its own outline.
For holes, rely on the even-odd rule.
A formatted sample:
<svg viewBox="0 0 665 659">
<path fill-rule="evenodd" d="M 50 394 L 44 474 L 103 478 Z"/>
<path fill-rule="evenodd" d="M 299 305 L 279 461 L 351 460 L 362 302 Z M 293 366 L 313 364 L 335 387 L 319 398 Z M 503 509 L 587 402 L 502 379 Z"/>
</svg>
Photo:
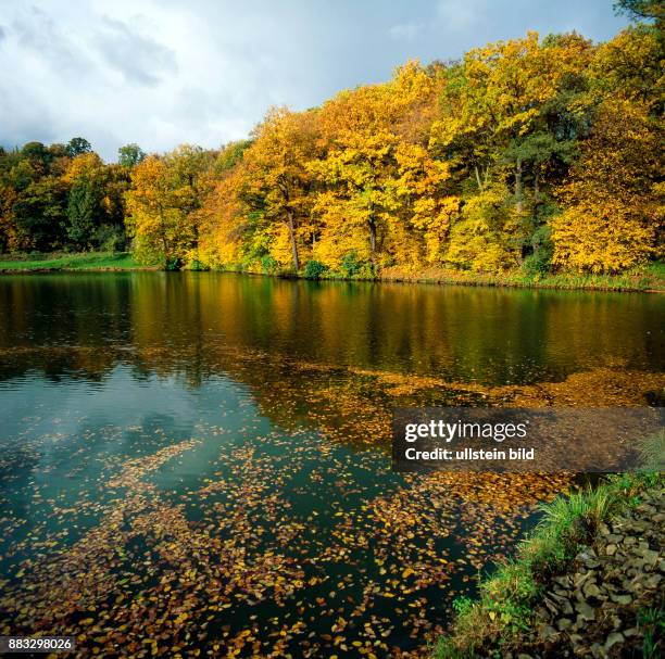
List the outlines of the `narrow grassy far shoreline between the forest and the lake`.
<svg viewBox="0 0 665 659">
<path fill-rule="evenodd" d="M 9 266 L 9 267 L 7 267 Z M 291 271 L 256 273 L 243 269 L 201 270 L 211 273 L 233 273 L 277 279 L 306 279 L 310 281 L 364 281 L 375 283 L 419 283 L 436 286 L 466 286 L 486 288 L 543 289 L 567 291 L 598 291 L 616 293 L 665 293 L 665 278 L 654 271 L 661 264 L 652 264 L 652 269 L 630 271 L 624 275 L 579 275 L 552 274 L 529 276 L 518 270 L 500 275 L 469 274 L 463 270 L 429 268 L 417 273 L 404 273 L 398 268 L 385 268 L 376 277 L 343 277 L 325 273 L 313 279 L 304 274 Z M 0 275 L 32 275 L 49 273 L 130 273 L 161 271 L 159 266 L 140 265 L 134 262 L 128 252 L 81 253 L 48 255 L 42 258 L 0 258 Z M 190 271 L 190 270 L 183 270 Z"/>
</svg>

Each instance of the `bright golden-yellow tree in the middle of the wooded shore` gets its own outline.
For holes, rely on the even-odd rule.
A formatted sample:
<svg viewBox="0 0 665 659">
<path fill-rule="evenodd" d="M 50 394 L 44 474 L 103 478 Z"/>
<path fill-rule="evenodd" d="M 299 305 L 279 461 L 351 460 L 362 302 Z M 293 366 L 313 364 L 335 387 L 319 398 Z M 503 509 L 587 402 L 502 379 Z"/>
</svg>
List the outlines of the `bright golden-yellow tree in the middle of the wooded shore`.
<svg viewBox="0 0 665 659">
<path fill-rule="evenodd" d="M 427 149 L 423 109 L 434 102 L 431 77 L 412 62 L 389 84 L 346 91 L 324 105 L 325 156 L 311 166 L 322 183 L 317 254 L 325 263 L 338 265 L 349 253 L 373 269 L 393 258 L 417 261 L 414 229 L 439 230 L 448 168 Z"/>
</svg>

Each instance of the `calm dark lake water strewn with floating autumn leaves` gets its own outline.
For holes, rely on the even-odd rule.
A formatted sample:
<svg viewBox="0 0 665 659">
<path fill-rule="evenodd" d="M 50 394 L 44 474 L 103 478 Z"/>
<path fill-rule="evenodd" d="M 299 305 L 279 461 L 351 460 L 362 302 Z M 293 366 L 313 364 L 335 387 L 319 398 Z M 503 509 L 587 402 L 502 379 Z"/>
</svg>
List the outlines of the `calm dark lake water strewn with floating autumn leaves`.
<svg viewBox="0 0 665 659">
<path fill-rule="evenodd" d="M 81 656 L 417 650 L 568 478 L 392 473 L 391 408 L 552 382 L 616 404 L 612 373 L 645 404 L 664 320 L 647 294 L 2 277 L 2 629 Z"/>
</svg>

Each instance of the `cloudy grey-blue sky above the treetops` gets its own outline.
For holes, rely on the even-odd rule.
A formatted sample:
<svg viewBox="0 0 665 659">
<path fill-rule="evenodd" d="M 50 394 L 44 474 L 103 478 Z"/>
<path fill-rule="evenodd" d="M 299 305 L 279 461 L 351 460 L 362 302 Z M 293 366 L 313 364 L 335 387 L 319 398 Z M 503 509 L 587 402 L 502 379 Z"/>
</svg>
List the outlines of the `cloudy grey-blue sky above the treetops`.
<svg viewBox="0 0 665 659">
<path fill-rule="evenodd" d="M 626 24 L 612 0 L 0 0 L 0 144 L 218 148 L 407 60 Z"/>
</svg>

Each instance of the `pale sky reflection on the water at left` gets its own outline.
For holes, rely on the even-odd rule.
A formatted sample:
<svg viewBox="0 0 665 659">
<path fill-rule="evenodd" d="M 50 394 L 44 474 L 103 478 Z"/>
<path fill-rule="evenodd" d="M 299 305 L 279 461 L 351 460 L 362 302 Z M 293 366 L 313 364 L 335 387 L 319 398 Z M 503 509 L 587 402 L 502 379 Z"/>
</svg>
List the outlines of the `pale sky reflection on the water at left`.
<svg viewBox="0 0 665 659">
<path fill-rule="evenodd" d="M 0 447 L 15 465 L 10 490 L 29 479 L 46 498 L 70 498 L 67 491 L 74 496 L 79 485 L 100 485 L 96 481 L 109 460 L 149 455 L 192 438 L 202 445 L 179 476 L 196 476 L 218 455 L 221 442 L 269 429 L 246 389 L 230 380 L 214 377 L 191 389 L 177 377 L 137 380 L 124 366 L 102 384 L 23 377 L 0 385 Z"/>
</svg>

